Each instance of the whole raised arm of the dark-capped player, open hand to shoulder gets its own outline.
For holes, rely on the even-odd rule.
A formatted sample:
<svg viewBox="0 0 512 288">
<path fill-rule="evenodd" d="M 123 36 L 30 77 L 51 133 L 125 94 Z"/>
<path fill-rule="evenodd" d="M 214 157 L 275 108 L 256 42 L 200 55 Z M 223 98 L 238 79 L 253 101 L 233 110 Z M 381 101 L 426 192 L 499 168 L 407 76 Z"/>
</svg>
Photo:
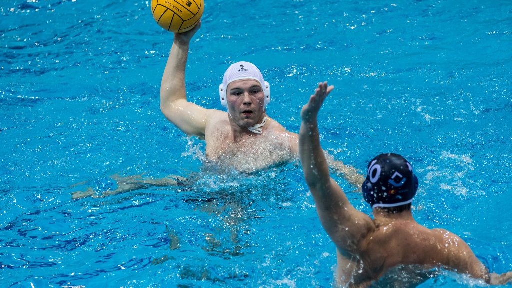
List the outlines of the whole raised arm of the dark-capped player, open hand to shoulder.
<svg viewBox="0 0 512 288">
<path fill-rule="evenodd" d="M 374 224 L 368 215 L 350 204 L 342 188 L 330 177 L 329 164 L 320 144 L 317 116 L 333 89 L 327 82 L 319 84 L 302 109 L 299 155 L 324 229 L 339 250 L 356 254 L 357 245 L 373 231 Z"/>
</svg>

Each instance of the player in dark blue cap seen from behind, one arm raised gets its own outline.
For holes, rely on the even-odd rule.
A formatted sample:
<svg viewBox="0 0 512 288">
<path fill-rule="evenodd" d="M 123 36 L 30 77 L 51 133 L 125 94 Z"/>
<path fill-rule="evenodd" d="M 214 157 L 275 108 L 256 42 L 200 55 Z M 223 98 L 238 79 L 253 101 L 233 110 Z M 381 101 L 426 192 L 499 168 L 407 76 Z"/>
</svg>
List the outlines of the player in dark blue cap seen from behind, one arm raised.
<svg viewBox="0 0 512 288">
<path fill-rule="evenodd" d="M 318 111 L 333 89 L 327 82 L 319 84 L 302 109 L 299 151 L 318 216 L 336 245 L 337 283 L 366 287 L 379 279 L 407 279 L 409 283 L 400 284 L 405 286 L 426 280 L 421 275 L 434 268 L 467 274 L 490 284 L 510 283 L 512 272 L 489 273 L 457 235 L 443 229 L 430 230 L 414 220 L 411 204 L 418 179 L 411 164 L 400 155 L 382 154 L 368 165 L 362 192 L 373 208 L 374 219 L 350 204 L 330 177 L 318 133 Z M 401 277 L 393 278 L 393 272 L 400 272 Z"/>
</svg>

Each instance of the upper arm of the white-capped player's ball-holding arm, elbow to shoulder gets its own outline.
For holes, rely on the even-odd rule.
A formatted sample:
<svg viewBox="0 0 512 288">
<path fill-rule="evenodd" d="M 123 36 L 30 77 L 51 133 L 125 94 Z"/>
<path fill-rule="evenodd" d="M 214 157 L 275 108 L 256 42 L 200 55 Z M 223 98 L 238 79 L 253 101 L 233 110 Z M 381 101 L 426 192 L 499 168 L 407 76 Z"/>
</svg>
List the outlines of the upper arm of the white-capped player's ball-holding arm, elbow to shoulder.
<svg viewBox="0 0 512 288">
<path fill-rule="evenodd" d="M 165 117 L 187 135 L 204 137 L 209 117 L 216 110 L 202 108 L 186 99 L 161 105 Z"/>
</svg>

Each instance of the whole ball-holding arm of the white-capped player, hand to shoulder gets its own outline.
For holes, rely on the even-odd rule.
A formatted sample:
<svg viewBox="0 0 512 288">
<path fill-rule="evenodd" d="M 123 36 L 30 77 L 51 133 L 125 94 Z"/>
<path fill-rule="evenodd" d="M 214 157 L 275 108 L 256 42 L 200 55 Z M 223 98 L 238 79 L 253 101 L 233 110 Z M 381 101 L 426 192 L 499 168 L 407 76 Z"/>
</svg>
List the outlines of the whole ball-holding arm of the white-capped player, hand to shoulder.
<svg viewBox="0 0 512 288">
<path fill-rule="evenodd" d="M 187 101 L 185 67 L 190 40 L 201 27 L 201 22 L 185 33 L 175 33 L 173 47 L 165 66 L 160 88 L 160 110 L 187 135 L 204 136 L 211 110 Z"/>
</svg>

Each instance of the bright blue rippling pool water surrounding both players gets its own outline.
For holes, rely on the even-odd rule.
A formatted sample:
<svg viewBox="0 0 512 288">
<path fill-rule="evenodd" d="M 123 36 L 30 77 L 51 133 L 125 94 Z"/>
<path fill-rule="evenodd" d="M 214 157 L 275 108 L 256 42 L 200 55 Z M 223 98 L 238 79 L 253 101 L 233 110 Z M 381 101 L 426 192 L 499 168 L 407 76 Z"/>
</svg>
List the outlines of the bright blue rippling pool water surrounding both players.
<svg viewBox="0 0 512 288">
<path fill-rule="evenodd" d="M 331 286 L 335 247 L 298 163 L 251 175 L 205 164 L 204 144 L 160 113 L 173 35 L 150 10 L 141 1 L 0 3 L 0 286 Z M 222 109 L 225 69 L 251 61 L 271 84 L 268 114 L 298 132 L 300 109 L 329 81 L 324 148 L 362 171 L 380 153 L 406 156 L 420 179 L 418 222 L 460 235 L 504 273 L 510 47 L 504 0 L 208 0 L 188 98 Z M 194 180 L 71 198 L 141 174 Z M 445 273 L 422 287 L 475 285 Z"/>
</svg>

